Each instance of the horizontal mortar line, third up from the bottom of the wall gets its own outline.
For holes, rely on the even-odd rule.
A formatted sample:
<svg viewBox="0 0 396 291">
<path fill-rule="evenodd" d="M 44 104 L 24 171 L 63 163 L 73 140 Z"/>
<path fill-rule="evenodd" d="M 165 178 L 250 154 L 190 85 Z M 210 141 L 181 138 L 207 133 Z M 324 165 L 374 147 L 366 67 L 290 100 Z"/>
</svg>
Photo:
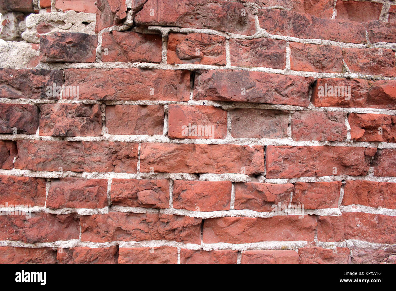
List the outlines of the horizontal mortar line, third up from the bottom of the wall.
<svg viewBox="0 0 396 291">
<path fill-rule="evenodd" d="M 78 177 L 83 179 L 172 179 L 172 180 L 199 180 L 199 181 L 231 181 L 231 182 L 264 182 L 256 181 L 253 177 L 238 173 L 115 173 L 115 172 L 74 172 L 74 171 L 32 171 L 27 169 L 0 169 L 0 175 L 37 177 L 46 179 L 59 179 L 65 177 Z M 322 177 L 298 177 L 298 178 L 278 178 L 265 179 L 266 183 L 287 184 L 295 182 L 327 182 L 342 180 L 367 180 L 373 182 L 393 182 L 396 183 L 396 177 L 373 176 L 322 176 Z"/>
</svg>

